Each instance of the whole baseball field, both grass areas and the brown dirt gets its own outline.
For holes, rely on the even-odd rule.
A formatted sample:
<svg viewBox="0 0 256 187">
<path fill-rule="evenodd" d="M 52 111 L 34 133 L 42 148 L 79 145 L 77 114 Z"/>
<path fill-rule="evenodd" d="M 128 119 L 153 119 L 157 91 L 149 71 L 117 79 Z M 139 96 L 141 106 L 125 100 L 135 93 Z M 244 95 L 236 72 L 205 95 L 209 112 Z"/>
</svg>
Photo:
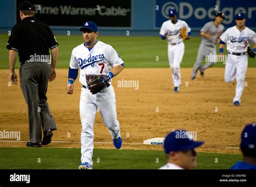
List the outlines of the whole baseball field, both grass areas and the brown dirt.
<svg viewBox="0 0 256 187">
<path fill-rule="evenodd" d="M 66 93 L 72 48 L 83 42 L 78 35 L 56 35 L 59 43 L 57 78 L 49 83 L 48 103 L 57 123 L 52 143 L 27 148 L 29 125 L 27 107 L 20 85 L 9 82 L 7 34 L 0 34 L 0 135 L 17 132 L 20 136 L 0 136 L 0 169 L 78 169 L 80 164 L 79 95 L 75 82 L 73 95 Z M 173 92 L 167 44 L 160 37 L 98 38 L 113 46 L 125 62 L 125 69 L 112 80 L 116 92 L 117 117 L 123 146 L 114 148 L 100 113 L 95 120 L 93 169 L 157 169 L 166 163 L 163 147 L 143 145 L 151 138 L 164 138 L 174 129 L 196 132 L 204 140 L 198 150 L 197 169 L 228 169 L 241 160 L 242 128 L 255 121 L 256 63 L 248 59 L 241 105 L 233 106 L 235 82 L 225 83 L 225 64 L 217 63 L 205 77 L 191 81 L 192 67 L 200 45 L 199 37 L 185 41 L 181 63 L 181 87 Z M 226 50 L 225 50 L 226 51 Z M 254 60 L 254 61 L 253 61 Z M 16 61 L 18 74 L 19 62 Z M 18 78 L 19 81 L 19 78 Z"/>
</svg>

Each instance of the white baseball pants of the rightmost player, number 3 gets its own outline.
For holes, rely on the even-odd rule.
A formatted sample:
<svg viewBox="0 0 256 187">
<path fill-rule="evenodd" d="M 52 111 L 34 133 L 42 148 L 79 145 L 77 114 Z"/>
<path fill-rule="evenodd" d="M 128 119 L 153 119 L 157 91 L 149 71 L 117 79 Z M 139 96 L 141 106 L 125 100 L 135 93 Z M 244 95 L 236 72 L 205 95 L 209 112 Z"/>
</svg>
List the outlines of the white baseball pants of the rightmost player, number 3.
<svg viewBox="0 0 256 187">
<path fill-rule="evenodd" d="M 234 78 L 237 81 L 235 88 L 235 97 L 233 102 L 241 102 L 242 91 L 245 88 L 245 74 L 247 71 L 247 56 L 246 55 L 227 55 L 225 66 L 225 82 L 233 82 Z"/>
</svg>

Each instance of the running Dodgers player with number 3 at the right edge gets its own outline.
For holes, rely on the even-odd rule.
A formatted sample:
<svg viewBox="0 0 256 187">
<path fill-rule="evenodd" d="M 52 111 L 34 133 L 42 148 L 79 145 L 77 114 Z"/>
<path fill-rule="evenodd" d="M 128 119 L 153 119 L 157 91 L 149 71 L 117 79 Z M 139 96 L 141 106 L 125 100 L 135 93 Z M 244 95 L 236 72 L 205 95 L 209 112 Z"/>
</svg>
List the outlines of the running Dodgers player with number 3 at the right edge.
<svg viewBox="0 0 256 187">
<path fill-rule="evenodd" d="M 228 28 L 220 36 L 219 55 L 223 56 L 225 44 L 227 44 L 227 60 L 225 65 L 225 82 L 237 81 L 235 88 L 235 97 L 233 104 L 239 106 L 241 102 L 242 91 L 244 90 L 245 74 L 247 70 L 247 56 L 254 57 L 256 51 L 256 35 L 255 32 L 245 26 L 244 13 L 235 15 L 236 25 Z M 253 44 L 253 51 L 248 48 L 249 40 Z"/>
</svg>

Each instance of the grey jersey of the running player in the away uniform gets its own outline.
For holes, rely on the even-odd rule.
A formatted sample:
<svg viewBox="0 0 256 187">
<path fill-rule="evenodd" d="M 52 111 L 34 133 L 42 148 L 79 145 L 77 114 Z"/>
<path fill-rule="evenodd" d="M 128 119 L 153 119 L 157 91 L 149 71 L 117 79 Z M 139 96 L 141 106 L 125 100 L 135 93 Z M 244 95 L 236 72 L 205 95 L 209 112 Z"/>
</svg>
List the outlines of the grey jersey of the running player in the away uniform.
<svg viewBox="0 0 256 187">
<path fill-rule="evenodd" d="M 208 46 L 216 46 L 216 39 L 223 33 L 224 26 L 220 24 L 218 27 L 216 27 L 213 23 L 213 21 L 210 21 L 206 23 L 203 28 L 201 28 L 200 32 L 206 32 L 207 34 L 211 34 L 214 37 L 211 39 L 202 37 L 202 44 L 208 45 Z"/>
</svg>

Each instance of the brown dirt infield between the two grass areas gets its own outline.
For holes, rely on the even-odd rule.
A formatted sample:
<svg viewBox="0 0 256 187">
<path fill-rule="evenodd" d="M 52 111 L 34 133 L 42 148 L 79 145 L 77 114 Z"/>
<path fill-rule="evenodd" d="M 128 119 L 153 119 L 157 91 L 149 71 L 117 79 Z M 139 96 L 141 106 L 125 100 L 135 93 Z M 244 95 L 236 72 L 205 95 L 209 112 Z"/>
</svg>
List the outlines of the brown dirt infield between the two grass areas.
<svg viewBox="0 0 256 187">
<path fill-rule="evenodd" d="M 199 148 L 201 152 L 240 153 L 237 147 L 241 130 L 245 124 L 255 120 L 256 68 L 247 70 L 247 87 L 239 107 L 233 106 L 235 85 L 224 82 L 224 68 L 208 69 L 206 76 L 198 76 L 196 81 L 190 80 L 191 72 L 191 68 L 181 69 L 179 93 L 173 92 L 169 68 L 125 69 L 113 78 L 123 148 L 162 149 L 161 146 L 129 143 L 143 143 L 146 139 L 164 137 L 173 129 L 184 128 L 196 131 L 197 140 L 206 141 Z M 0 131 L 21 131 L 21 140 L 28 140 L 27 108 L 21 88 L 19 84 L 9 87 L 9 70 L 0 70 L 0 73 Z M 66 94 L 67 75 L 68 69 L 57 70 L 57 79 L 49 83 L 48 103 L 58 127 L 53 141 L 75 142 L 53 142 L 45 147 L 80 147 L 80 83 L 75 83 L 73 95 Z M 138 89 L 124 88 L 125 81 L 139 81 Z M 109 131 L 97 112 L 95 142 L 111 141 Z M 24 146 L 25 142 L 0 142 L 0 147 Z M 95 147 L 113 148 L 113 145 L 95 143 Z"/>
</svg>

